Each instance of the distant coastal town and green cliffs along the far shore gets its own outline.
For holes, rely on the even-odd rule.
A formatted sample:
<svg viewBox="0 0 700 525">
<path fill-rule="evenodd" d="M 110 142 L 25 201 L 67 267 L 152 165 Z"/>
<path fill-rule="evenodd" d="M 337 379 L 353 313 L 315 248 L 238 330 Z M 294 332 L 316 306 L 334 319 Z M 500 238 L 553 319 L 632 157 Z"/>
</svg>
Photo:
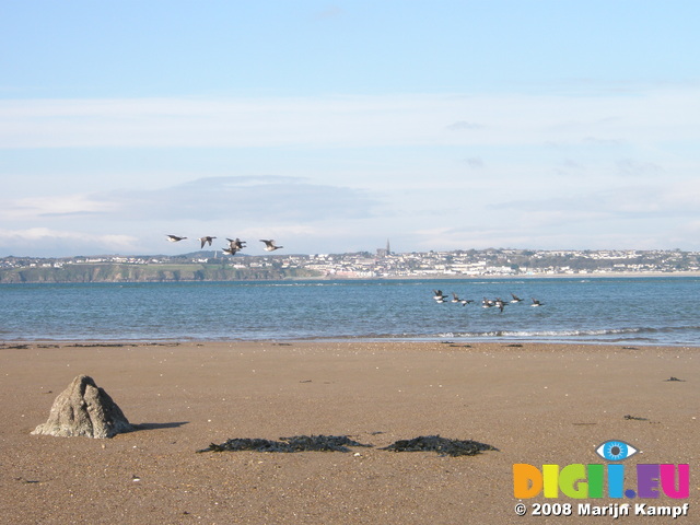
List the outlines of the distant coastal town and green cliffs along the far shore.
<svg viewBox="0 0 700 525">
<path fill-rule="evenodd" d="M 235 256 L 222 252 L 0 258 L 0 283 L 393 279 L 700 273 L 700 252 L 458 249 Z"/>
</svg>

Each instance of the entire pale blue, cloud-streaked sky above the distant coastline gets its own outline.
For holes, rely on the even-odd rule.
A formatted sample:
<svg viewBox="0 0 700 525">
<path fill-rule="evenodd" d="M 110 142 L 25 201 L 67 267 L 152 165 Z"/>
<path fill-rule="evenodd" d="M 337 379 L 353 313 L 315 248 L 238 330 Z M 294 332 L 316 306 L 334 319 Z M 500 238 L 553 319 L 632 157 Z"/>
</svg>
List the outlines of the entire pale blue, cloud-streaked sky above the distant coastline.
<svg viewBox="0 0 700 525">
<path fill-rule="evenodd" d="M 696 0 L 0 0 L 0 257 L 205 235 L 699 250 L 698 20 Z"/>
</svg>

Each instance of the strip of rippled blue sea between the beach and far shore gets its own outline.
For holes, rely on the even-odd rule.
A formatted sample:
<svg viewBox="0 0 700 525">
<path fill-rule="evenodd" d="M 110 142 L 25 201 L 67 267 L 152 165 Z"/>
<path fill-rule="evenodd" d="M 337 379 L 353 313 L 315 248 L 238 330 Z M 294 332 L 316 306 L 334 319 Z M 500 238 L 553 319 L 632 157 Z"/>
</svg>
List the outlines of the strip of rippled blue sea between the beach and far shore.
<svg viewBox="0 0 700 525">
<path fill-rule="evenodd" d="M 436 303 L 433 290 L 475 302 Z M 481 307 L 482 298 L 522 303 Z M 0 285 L 0 341 L 452 340 L 700 345 L 700 278 Z M 532 298 L 544 305 L 533 307 Z"/>
</svg>

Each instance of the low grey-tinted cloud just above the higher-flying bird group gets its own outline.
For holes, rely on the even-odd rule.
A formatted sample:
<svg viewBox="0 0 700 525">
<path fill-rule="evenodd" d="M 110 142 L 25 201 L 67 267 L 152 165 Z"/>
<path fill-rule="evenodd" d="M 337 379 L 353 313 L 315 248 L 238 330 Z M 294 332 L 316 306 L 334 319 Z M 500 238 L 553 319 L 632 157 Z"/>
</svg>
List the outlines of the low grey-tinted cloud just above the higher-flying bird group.
<svg viewBox="0 0 700 525">
<path fill-rule="evenodd" d="M 323 222 L 373 214 L 369 191 L 315 184 L 300 177 L 205 177 L 155 190 L 27 197 L 3 202 L 0 219 L 101 221 Z"/>
</svg>

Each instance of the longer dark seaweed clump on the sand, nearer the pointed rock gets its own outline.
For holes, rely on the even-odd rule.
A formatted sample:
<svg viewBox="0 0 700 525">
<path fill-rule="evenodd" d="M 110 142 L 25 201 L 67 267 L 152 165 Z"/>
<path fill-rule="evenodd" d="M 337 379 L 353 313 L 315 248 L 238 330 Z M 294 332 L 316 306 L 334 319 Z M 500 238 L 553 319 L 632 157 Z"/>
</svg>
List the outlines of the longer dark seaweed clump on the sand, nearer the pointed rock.
<svg viewBox="0 0 700 525">
<path fill-rule="evenodd" d="M 372 445 L 359 443 L 347 435 L 294 435 L 280 438 L 280 441 L 234 438 L 220 445 L 211 443 L 209 447 L 197 452 L 350 452 L 349 446 Z"/>
</svg>

